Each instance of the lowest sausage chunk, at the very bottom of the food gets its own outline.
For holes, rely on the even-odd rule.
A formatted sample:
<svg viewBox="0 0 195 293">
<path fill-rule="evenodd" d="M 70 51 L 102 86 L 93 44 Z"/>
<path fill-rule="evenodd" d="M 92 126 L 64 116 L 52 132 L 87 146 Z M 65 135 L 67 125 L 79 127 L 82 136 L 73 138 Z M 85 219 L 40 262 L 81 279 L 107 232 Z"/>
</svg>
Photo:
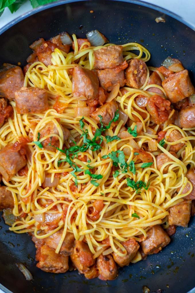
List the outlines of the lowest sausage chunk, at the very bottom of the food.
<svg viewBox="0 0 195 293">
<path fill-rule="evenodd" d="M 100 280 L 113 280 L 117 276 L 117 267 L 111 254 L 99 255 L 97 258 L 97 268 Z"/>
</svg>

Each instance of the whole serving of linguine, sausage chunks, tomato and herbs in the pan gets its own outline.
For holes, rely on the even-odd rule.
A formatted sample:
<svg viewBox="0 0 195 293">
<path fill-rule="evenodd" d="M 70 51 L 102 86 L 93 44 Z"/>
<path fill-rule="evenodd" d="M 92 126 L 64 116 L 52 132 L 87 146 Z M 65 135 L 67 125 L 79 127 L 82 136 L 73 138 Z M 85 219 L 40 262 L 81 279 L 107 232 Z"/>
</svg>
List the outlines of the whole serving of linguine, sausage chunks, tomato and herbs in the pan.
<svg viewBox="0 0 195 293">
<path fill-rule="evenodd" d="M 72 38 L 0 71 L 0 208 L 38 268 L 113 280 L 194 214 L 194 86 L 177 59 L 147 67 L 137 43 Z"/>
</svg>

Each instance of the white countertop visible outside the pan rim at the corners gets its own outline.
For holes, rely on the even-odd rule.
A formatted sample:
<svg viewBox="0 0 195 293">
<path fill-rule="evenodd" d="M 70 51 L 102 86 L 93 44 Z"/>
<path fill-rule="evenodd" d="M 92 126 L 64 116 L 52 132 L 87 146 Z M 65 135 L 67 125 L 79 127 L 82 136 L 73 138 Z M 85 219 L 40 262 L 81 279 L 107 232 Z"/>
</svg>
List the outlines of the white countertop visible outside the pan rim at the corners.
<svg viewBox="0 0 195 293">
<path fill-rule="evenodd" d="M 152 3 L 163 7 L 176 13 L 179 16 L 195 26 L 195 0 L 142 0 L 144 2 Z M 26 2 L 19 8 L 18 11 L 11 14 L 8 8 L 5 9 L 3 15 L 0 17 L 0 28 L 17 18 L 18 16 L 32 10 L 30 1 Z M 0 289 L 0 293 L 3 293 Z"/>
</svg>

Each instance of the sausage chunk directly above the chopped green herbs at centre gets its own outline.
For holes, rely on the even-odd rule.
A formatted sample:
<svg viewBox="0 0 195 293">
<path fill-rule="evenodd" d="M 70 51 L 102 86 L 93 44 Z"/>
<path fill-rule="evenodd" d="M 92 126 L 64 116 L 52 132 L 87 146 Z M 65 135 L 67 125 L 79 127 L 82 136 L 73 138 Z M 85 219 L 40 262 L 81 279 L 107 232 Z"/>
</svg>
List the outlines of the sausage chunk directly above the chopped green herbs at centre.
<svg viewBox="0 0 195 293">
<path fill-rule="evenodd" d="M 100 121 L 100 117 L 98 115 L 102 116 L 101 122 L 105 125 L 109 124 L 109 122 L 114 118 L 115 112 L 118 109 L 117 103 L 112 100 L 109 103 L 106 103 L 102 105 L 101 107 L 97 108 L 96 111 L 94 111 L 91 116 L 97 120 Z"/>
</svg>

